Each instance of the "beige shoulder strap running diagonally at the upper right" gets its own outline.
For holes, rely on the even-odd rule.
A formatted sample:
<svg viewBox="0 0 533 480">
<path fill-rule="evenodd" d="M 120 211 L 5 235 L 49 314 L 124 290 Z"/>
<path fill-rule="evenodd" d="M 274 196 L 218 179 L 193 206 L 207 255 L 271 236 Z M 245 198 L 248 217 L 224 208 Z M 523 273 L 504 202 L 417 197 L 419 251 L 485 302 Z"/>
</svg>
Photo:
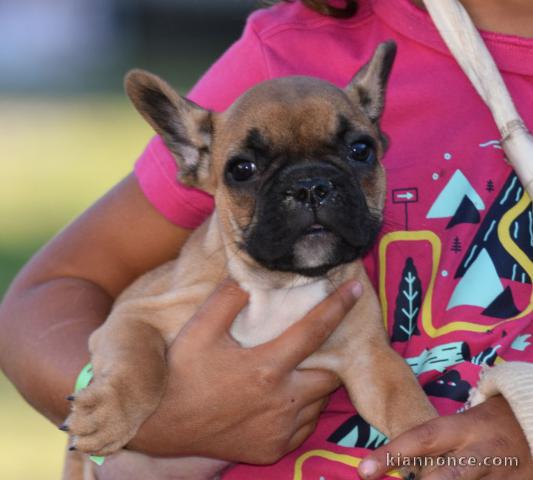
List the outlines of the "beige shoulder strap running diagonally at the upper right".
<svg viewBox="0 0 533 480">
<path fill-rule="evenodd" d="M 458 0 L 424 3 L 442 39 L 492 112 L 507 160 L 533 198 L 533 137 L 516 111 L 481 35 Z"/>
</svg>

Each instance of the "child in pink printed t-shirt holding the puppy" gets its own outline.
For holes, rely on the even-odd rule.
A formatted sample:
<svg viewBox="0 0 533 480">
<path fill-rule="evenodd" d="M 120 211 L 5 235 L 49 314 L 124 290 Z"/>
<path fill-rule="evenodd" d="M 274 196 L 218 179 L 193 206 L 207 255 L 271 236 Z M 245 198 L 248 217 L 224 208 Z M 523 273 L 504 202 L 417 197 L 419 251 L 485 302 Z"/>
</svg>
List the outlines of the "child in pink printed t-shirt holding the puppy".
<svg viewBox="0 0 533 480">
<path fill-rule="evenodd" d="M 530 2 L 463 3 L 479 28 L 495 32 L 485 40 L 531 125 Z M 227 336 L 206 344 L 194 337 L 199 329 L 189 329 L 169 352 L 169 385 L 159 409 L 130 448 L 271 464 L 238 465 L 224 475 L 229 479 L 354 478 L 357 465 L 364 478 L 374 479 L 391 467 L 387 451 L 520 460 L 518 467 L 442 466 L 428 475 L 433 480 L 518 479 L 533 472 L 531 203 L 503 161 L 489 112 L 418 2 L 399 0 L 391 8 L 385 0 L 363 0 L 357 9 L 354 2 L 343 9 L 308 1 L 260 10 L 189 98 L 222 111 L 260 81 L 292 74 L 344 86 L 387 39 L 398 44 L 382 120 L 391 140 L 384 159 L 387 207 L 366 267 L 393 347 L 445 416 L 360 463 L 384 439 L 353 412 L 342 390 L 318 417 L 335 378 L 295 372 L 294 364 L 278 361 L 289 356 L 287 343 L 275 343 L 255 358 L 236 344 L 228 346 Z M 135 170 L 30 262 L 2 305 L 2 366 L 28 401 L 57 423 L 87 361 L 87 338 L 113 298 L 174 257 L 212 209 L 208 195 L 176 183 L 175 162 L 159 137 Z M 227 326 L 245 301 L 238 288 L 225 284 L 210 300 L 217 307 L 202 309 L 193 321 L 201 329 Z M 341 315 L 334 301 L 326 300 L 331 330 Z M 302 353 L 318 320 L 306 319 L 305 334 L 290 332 Z M 28 362 L 39 368 L 28 369 Z M 257 371 L 260 378 L 253 375 Z M 473 400 L 485 401 L 457 414 L 476 386 Z M 287 402 L 292 398 L 297 401 Z M 111 463 L 99 478 L 121 478 Z"/>
</svg>

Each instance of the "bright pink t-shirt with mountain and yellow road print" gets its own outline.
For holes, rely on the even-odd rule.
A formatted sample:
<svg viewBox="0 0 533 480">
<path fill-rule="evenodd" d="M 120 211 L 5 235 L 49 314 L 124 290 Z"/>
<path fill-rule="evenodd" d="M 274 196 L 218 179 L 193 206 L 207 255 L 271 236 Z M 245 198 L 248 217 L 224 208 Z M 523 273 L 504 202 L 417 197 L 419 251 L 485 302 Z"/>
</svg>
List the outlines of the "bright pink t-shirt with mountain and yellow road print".
<svg viewBox="0 0 533 480">
<path fill-rule="evenodd" d="M 490 112 L 429 17 L 409 0 L 359 4 L 348 20 L 297 1 L 254 13 L 189 97 L 221 111 L 269 78 L 304 74 L 344 86 L 377 43 L 397 42 L 382 120 L 391 139 L 385 226 L 366 266 L 394 348 L 439 412 L 450 414 L 481 365 L 533 360 L 531 201 L 503 160 Z M 483 37 L 533 129 L 533 40 Z M 194 228 L 213 208 L 210 196 L 176 181 L 158 137 L 135 171 L 150 202 L 176 225 Z M 383 441 L 341 389 L 295 452 L 272 466 L 235 466 L 224 478 L 355 479 L 359 459 Z"/>
</svg>

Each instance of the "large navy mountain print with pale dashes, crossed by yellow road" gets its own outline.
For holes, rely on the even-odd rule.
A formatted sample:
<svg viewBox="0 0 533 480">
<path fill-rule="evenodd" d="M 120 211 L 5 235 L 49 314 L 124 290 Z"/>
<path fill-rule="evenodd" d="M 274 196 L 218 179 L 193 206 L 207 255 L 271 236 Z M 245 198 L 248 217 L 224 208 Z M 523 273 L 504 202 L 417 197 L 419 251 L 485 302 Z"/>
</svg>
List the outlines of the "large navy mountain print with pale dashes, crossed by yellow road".
<svg viewBox="0 0 533 480">
<path fill-rule="evenodd" d="M 483 222 L 466 249 L 464 257 L 455 273 L 455 278 L 465 276 L 480 255 L 486 253 L 500 278 L 506 278 L 522 283 L 531 283 L 530 273 L 526 272 L 520 263 L 502 244 L 498 234 L 498 225 L 502 217 L 513 208 L 524 195 L 524 189 L 518 177 L 512 173 L 505 182 L 488 210 Z M 533 257 L 533 214 L 531 204 L 525 208 L 511 223 L 510 235 L 514 244 L 524 252 L 528 258 Z M 503 291 L 503 288 L 502 288 Z M 502 293 L 498 292 L 498 295 Z M 494 298 L 491 299 L 494 300 Z M 484 305 L 487 307 L 489 304 Z"/>
</svg>

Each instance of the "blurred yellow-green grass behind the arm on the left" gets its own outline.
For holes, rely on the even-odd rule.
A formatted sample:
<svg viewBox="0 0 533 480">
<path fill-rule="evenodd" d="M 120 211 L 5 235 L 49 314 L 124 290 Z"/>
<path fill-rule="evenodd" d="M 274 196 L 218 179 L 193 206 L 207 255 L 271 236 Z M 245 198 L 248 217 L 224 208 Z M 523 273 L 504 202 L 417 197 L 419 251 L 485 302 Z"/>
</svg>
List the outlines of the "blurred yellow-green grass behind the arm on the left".
<svg viewBox="0 0 533 480">
<path fill-rule="evenodd" d="M 151 135 L 122 95 L 0 97 L 0 296 L 36 249 L 131 171 Z M 0 373 L 0 479 L 60 478 L 65 443 Z"/>
</svg>

